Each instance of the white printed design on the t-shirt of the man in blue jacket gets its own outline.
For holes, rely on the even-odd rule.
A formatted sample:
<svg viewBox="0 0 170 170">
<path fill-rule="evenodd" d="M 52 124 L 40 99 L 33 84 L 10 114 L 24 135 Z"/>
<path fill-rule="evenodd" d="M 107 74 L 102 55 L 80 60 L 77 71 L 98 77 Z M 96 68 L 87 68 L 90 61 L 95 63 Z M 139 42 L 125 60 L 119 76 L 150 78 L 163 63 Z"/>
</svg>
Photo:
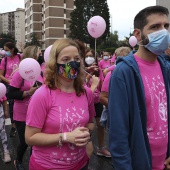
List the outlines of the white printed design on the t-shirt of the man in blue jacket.
<svg viewBox="0 0 170 170">
<path fill-rule="evenodd" d="M 145 83 L 148 89 L 148 99 L 146 99 L 146 101 L 150 100 L 150 102 L 148 102 L 150 103 L 150 110 L 147 117 L 149 120 L 153 120 L 148 124 L 148 136 L 150 139 L 164 138 L 167 136 L 167 100 L 165 85 L 161 81 L 159 75 L 153 77 L 150 81 L 148 77 L 145 76 Z"/>
</svg>

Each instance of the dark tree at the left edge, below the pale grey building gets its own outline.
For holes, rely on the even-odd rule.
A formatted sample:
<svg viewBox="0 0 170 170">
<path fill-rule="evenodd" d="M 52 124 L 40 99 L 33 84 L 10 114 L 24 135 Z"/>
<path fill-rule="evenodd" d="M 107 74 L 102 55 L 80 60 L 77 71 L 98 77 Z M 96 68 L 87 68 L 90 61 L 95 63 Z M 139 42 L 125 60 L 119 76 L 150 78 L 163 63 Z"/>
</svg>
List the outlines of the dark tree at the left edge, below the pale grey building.
<svg viewBox="0 0 170 170">
<path fill-rule="evenodd" d="M 1 33 L 0 34 L 0 48 L 3 48 L 4 44 L 7 42 L 16 43 L 15 37 L 10 33 L 7 33 L 7 34 Z"/>
</svg>

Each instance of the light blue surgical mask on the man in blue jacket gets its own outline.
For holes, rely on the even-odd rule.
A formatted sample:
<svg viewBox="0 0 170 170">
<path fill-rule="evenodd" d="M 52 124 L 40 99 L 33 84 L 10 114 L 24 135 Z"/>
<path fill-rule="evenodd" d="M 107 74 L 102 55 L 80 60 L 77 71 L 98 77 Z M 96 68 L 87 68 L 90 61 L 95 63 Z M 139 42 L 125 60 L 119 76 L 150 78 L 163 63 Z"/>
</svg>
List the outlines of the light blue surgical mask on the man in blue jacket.
<svg viewBox="0 0 170 170">
<path fill-rule="evenodd" d="M 148 34 L 149 43 L 144 45 L 149 51 L 161 55 L 169 46 L 170 36 L 166 29 Z"/>
</svg>

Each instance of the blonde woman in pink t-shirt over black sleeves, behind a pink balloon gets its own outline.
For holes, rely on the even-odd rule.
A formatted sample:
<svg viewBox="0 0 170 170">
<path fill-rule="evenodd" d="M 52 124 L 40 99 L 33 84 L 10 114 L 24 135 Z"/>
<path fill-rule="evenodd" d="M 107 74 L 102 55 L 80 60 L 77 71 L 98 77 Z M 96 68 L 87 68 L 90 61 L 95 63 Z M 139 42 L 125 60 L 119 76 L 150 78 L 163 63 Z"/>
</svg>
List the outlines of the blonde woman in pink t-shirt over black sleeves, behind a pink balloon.
<svg viewBox="0 0 170 170">
<path fill-rule="evenodd" d="M 22 60 L 25 58 L 38 59 L 39 56 L 39 47 L 37 46 L 28 46 L 23 51 Z M 43 78 L 39 76 L 39 82 L 43 82 Z M 13 119 L 15 120 L 16 129 L 19 136 L 19 145 L 17 147 L 17 157 L 14 161 L 16 169 L 23 168 L 22 160 L 24 153 L 28 147 L 25 142 L 25 122 L 26 122 L 26 113 L 28 109 L 28 102 L 30 97 L 37 90 L 37 86 L 33 86 L 34 82 L 24 80 L 19 70 L 16 69 L 12 80 L 10 81 L 9 86 L 9 97 L 14 99 L 13 107 Z"/>
</svg>

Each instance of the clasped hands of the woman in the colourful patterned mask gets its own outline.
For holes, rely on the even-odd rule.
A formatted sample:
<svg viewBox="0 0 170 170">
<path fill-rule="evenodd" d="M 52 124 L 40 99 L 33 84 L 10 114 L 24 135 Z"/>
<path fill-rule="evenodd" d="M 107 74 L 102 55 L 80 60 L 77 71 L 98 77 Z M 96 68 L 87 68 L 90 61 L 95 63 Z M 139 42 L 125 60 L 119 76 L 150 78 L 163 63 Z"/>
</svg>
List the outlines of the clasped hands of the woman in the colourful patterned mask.
<svg viewBox="0 0 170 170">
<path fill-rule="evenodd" d="M 89 129 L 85 127 L 78 127 L 72 132 L 67 133 L 67 142 L 76 146 L 85 146 L 90 140 Z"/>
</svg>

